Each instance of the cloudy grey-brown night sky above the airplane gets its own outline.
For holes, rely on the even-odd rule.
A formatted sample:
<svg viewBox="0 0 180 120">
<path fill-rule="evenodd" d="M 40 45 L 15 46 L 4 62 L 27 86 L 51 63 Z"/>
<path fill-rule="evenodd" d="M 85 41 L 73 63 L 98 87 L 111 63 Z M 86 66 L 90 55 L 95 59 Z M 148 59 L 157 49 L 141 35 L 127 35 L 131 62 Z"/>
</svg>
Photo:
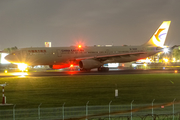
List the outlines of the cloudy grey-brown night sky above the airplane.
<svg viewBox="0 0 180 120">
<path fill-rule="evenodd" d="M 180 0 L 0 0 L 0 50 L 141 45 L 165 20 L 165 45 L 180 45 Z"/>
</svg>

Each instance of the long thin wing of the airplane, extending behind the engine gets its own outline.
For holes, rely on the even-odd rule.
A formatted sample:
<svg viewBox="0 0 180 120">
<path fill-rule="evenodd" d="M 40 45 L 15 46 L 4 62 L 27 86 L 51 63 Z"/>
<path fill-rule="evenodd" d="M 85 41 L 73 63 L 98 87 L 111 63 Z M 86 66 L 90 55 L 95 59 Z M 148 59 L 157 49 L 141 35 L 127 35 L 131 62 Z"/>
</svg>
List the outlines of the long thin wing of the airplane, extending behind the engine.
<svg viewBox="0 0 180 120">
<path fill-rule="evenodd" d="M 77 61 L 85 60 L 85 59 L 108 59 L 111 57 L 121 57 L 121 56 L 130 56 L 130 55 L 140 55 L 145 54 L 146 52 L 135 52 L 135 53 L 125 53 L 125 54 L 113 54 L 113 55 L 96 55 L 91 57 L 82 57 L 82 58 L 76 58 Z"/>
</svg>

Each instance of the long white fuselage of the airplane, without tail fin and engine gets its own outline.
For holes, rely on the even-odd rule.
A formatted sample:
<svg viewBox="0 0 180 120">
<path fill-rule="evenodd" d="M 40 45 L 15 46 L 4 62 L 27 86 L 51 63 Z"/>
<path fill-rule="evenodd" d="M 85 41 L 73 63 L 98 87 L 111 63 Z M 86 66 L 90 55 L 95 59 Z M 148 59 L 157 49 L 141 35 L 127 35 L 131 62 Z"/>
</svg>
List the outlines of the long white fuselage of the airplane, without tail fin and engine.
<svg viewBox="0 0 180 120">
<path fill-rule="evenodd" d="M 71 61 L 78 64 L 82 59 L 100 59 L 103 64 L 124 63 L 154 55 L 160 52 L 157 49 L 158 47 L 147 46 L 32 47 L 17 50 L 6 59 L 28 65 L 61 65 Z"/>
</svg>

